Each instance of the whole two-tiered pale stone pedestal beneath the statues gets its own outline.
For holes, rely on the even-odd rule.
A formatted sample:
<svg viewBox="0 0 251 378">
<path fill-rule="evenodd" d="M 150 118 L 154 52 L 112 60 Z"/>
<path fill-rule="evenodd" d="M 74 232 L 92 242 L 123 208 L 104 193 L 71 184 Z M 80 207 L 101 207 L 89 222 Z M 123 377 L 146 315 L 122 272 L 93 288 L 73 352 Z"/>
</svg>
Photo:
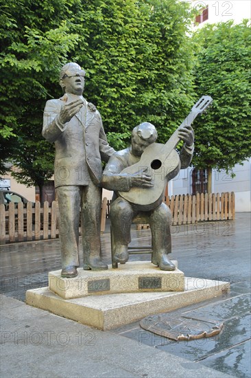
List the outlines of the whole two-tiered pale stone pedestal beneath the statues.
<svg viewBox="0 0 251 378">
<path fill-rule="evenodd" d="M 144 264 L 148 264 L 148 266 L 144 267 Z M 53 291 L 58 291 L 60 295 L 49 290 L 48 287 L 32 289 L 26 292 L 26 302 L 64 318 L 97 329 L 108 330 L 135 322 L 148 315 L 173 311 L 189 304 L 221 296 L 230 288 L 228 282 L 184 278 L 178 269 L 173 272 L 163 272 L 154 268 L 153 265 L 150 267 L 150 263 L 133 262 L 132 265 L 134 267 L 129 263 L 122 265 L 119 269 L 102 272 L 88 272 L 79 269 L 78 280 L 71 278 L 69 279 L 70 283 L 66 284 L 64 284 L 64 279 L 60 279 L 59 271 L 51 272 L 50 288 Z M 151 272 L 153 272 L 152 275 Z M 174 285 L 175 272 L 178 274 L 177 282 L 180 282 L 176 282 L 176 285 Z M 161 276 L 162 274 L 164 276 Z M 84 279 L 83 285 L 80 278 Z M 108 290 L 108 281 L 104 280 L 110 280 L 110 290 Z M 71 281 L 75 283 L 71 285 Z M 142 288 L 139 284 L 140 281 L 143 285 Z M 76 282 L 80 282 L 81 285 Z M 161 287 L 159 287 L 160 282 Z M 58 289 L 58 286 L 61 285 L 62 288 Z M 125 293 L 125 287 L 130 291 L 137 292 Z M 178 290 L 182 291 L 166 291 L 167 288 L 169 290 L 179 288 Z M 80 293 L 82 293 L 82 297 L 76 298 Z M 67 296 L 71 296 L 71 299 L 65 299 Z"/>
</svg>

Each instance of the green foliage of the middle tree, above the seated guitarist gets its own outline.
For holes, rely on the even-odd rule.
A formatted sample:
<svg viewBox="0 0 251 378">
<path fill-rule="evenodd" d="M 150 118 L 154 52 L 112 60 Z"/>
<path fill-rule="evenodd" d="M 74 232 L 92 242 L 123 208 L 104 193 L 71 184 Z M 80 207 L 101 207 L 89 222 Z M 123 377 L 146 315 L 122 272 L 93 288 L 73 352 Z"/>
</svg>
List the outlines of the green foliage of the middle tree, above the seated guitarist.
<svg viewBox="0 0 251 378">
<path fill-rule="evenodd" d="M 90 1 L 82 11 L 87 45 L 75 58 L 105 130 L 130 132 L 148 121 L 167 140 L 193 98 L 189 13 L 174 0 Z"/>
</svg>

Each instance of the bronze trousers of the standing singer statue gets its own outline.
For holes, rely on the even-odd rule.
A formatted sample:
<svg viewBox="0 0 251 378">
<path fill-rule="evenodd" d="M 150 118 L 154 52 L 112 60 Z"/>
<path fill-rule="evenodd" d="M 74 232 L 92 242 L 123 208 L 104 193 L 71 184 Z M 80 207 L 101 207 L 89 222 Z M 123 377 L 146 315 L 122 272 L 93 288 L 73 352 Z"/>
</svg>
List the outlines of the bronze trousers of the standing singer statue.
<svg viewBox="0 0 251 378">
<path fill-rule="evenodd" d="M 60 186 L 56 188 L 56 195 L 62 269 L 80 266 L 80 210 L 84 262 L 89 256 L 100 257 L 101 188 L 90 180 L 86 186 Z"/>
</svg>

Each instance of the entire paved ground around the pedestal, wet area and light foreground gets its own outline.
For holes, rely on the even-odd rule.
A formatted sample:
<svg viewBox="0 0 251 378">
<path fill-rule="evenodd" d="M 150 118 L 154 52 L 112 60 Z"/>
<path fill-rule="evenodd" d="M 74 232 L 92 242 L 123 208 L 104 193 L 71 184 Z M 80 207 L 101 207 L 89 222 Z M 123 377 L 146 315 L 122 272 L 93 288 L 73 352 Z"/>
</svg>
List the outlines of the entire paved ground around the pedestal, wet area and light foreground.
<svg viewBox="0 0 251 378">
<path fill-rule="evenodd" d="M 102 236 L 110 263 L 110 235 Z M 60 269 L 56 241 L 1 247 L 1 378 L 8 377 L 250 377 L 250 213 L 234 222 L 173 227 L 173 254 L 186 276 L 227 280 L 231 292 L 171 314 L 224 321 L 221 335 L 174 342 L 144 331 L 139 322 L 112 331 L 34 309 L 25 291 L 47 285 Z M 150 231 L 132 232 L 132 243 Z M 147 260 L 149 256 L 131 256 Z"/>
</svg>

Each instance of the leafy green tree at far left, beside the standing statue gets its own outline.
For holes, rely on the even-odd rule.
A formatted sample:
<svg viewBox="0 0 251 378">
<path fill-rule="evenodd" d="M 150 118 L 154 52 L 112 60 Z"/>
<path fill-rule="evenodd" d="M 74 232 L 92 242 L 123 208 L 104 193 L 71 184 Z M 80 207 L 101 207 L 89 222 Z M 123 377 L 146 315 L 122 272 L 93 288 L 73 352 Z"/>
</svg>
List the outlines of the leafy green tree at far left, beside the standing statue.
<svg viewBox="0 0 251 378">
<path fill-rule="evenodd" d="M 58 69 L 77 44 L 65 16 L 74 1 L 0 1 L 0 173 L 11 159 L 27 186 L 53 174 L 53 149 L 41 137 L 43 107 Z M 53 93 L 53 89 L 51 89 Z"/>
</svg>

